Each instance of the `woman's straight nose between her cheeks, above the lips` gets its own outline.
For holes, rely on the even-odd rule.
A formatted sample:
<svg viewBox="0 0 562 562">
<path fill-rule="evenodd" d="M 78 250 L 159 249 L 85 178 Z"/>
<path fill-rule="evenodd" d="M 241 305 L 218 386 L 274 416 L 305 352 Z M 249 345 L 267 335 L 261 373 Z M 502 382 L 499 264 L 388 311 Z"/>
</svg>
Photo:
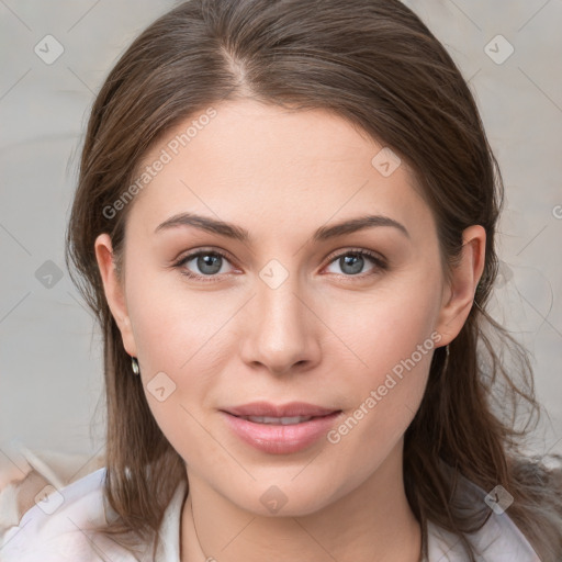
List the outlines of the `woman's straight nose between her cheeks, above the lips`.
<svg viewBox="0 0 562 562">
<path fill-rule="evenodd" d="M 277 288 L 257 280 L 240 345 L 243 360 L 273 374 L 311 369 L 319 361 L 318 325 L 314 303 L 300 290 L 295 274 Z"/>
</svg>

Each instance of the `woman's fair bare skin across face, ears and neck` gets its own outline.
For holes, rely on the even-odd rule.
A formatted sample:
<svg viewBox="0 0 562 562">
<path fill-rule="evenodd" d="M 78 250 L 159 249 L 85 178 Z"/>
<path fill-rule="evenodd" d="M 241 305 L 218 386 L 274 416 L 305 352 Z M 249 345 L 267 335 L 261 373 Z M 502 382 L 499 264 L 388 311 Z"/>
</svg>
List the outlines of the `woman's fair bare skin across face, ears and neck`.
<svg viewBox="0 0 562 562">
<path fill-rule="evenodd" d="M 132 203 L 121 283 L 110 237 L 95 240 L 124 347 L 138 358 L 149 407 L 187 463 L 181 560 L 415 562 L 420 529 L 404 492 L 403 436 L 434 350 L 338 443 L 322 438 L 296 453 L 266 453 L 217 411 L 303 401 L 347 418 L 431 333 L 439 346 L 458 335 L 482 276 L 485 231 L 463 233 L 462 260 L 447 282 L 431 212 L 404 162 L 383 177 L 371 165 L 382 147 L 323 110 L 249 100 L 215 109 Z M 190 226 L 155 234 L 186 211 L 235 223 L 252 240 Z M 367 211 L 398 221 L 409 238 L 378 226 L 312 241 L 316 228 Z M 200 248 L 231 256 L 217 282 L 170 266 Z M 389 269 L 364 257 L 353 273 L 338 258 L 358 248 L 383 256 Z M 288 273 L 276 289 L 259 277 L 271 259 Z M 211 268 L 192 259 L 183 269 L 203 277 Z M 164 402 L 146 387 L 160 371 L 176 384 Z M 272 485 L 286 497 L 274 515 L 260 502 Z"/>
</svg>

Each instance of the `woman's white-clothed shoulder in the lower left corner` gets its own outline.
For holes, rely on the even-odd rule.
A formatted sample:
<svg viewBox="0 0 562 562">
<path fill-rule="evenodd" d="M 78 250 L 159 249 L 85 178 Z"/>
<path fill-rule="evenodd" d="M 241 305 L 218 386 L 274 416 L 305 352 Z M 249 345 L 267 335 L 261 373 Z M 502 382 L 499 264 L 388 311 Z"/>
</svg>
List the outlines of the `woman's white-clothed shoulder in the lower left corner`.
<svg viewBox="0 0 562 562">
<path fill-rule="evenodd" d="M 128 562 L 135 560 L 114 542 L 93 535 L 108 524 L 99 469 L 60 490 L 50 488 L 0 537 L 2 562 Z"/>
</svg>

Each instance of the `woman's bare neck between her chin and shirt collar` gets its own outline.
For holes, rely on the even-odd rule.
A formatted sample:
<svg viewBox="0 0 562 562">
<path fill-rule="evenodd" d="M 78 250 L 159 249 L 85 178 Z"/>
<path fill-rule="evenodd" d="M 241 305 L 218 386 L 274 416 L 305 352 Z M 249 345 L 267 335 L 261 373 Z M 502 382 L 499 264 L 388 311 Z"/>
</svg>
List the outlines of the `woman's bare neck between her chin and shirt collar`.
<svg viewBox="0 0 562 562">
<path fill-rule="evenodd" d="M 402 445 L 402 443 L 400 443 Z M 396 448 L 360 486 L 303 516 L 239 508 L 188 469 L 181 562 L 418 562 L 422 533 Z"/>
</svg>

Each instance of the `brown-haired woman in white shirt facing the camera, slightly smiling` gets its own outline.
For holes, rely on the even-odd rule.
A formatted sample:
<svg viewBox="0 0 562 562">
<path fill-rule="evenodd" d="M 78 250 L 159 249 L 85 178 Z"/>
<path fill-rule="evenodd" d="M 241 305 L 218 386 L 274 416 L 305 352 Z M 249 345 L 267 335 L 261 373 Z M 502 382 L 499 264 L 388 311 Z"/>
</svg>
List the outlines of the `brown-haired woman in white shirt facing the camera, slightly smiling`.
<svg viewBox="0 0 562 562">
<path fill-rule="evenodd" d="M 95 100 L 68 228 L 105 468 L 3 560 L 560 560 L 560 482 L 515 429 L 530 364 L 485 311 L 502 201 L 398 1 L 160 18 Z"/>
</svg>

